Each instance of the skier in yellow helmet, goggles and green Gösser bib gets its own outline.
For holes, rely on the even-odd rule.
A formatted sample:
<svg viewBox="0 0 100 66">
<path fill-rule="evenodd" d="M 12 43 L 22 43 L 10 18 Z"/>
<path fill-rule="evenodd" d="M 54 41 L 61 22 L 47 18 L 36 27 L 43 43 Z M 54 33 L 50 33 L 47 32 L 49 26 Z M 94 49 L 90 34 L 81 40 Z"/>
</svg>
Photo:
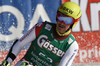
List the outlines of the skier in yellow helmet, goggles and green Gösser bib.
<svg viewBox="0 0 100 66">
<path fill-rule="evenodd" d="M 16 40 L 0 66 L 10 66 L 20 51 L 31 43 L 25 56 L 15 66 L 71 66 L 79 46 L 71 34 L 81 17 L 74 2 L 63 3 L 57 10 L 57 24 L 40 22 Z"/>
</svg>

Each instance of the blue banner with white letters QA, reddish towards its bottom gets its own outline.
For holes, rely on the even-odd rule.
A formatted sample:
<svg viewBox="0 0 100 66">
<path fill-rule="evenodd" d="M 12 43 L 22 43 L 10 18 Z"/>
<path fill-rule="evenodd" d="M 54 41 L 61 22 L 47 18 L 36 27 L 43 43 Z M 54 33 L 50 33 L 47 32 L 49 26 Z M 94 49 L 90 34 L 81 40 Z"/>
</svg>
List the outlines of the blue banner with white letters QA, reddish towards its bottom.
<svg viewBox="0 0 100 66">
<path fill-rule="evenodd" d="M 0 63 L 14 41 L 37 22 L 56 23 L 60 5 L 61 0 L 0 0 Z M 23 49 L 13 65 L 23 57 L 27 48 Z"/>
</svg>

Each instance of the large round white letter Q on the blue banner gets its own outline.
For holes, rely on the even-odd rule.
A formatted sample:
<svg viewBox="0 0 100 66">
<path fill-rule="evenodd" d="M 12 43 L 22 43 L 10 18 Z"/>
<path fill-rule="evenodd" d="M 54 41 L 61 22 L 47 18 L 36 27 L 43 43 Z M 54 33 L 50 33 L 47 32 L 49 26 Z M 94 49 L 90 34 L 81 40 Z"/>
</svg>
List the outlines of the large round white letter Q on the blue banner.
<svg viewBox="0 0 100 66">
<path fill-rule="evenodd" d="M 25 26 L 23 14 L 17 8 L 15 8 L 13 6 L 9 6 L 9 5 L 0 7 L 0 13 L 3 13 L 3 12 L 12 13 L 18 21 L 18 26 L 17 26 L 17 28 L 15 28 L 14 26 L 11 26 L 9 28 L 9 31 L 12 32 L 12 34 L 10 34 L 10 35 L 0 34 L 0 40 L 1 41 L 12 41 L 16 38 L 20 38 L 23 35 L 22 32 L 23 32 L 24 26 Z"/>
</svg>

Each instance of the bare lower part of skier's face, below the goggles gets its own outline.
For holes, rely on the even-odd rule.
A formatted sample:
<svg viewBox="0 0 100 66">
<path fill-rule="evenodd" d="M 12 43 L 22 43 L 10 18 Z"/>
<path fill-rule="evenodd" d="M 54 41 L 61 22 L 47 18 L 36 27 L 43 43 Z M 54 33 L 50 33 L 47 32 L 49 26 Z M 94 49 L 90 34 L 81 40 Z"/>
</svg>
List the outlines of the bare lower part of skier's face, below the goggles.
<svg viewBox="0 0 100 66">
<path fill-rule="evenodd" d="M 59 33 L 63 34 L 63 33 L 66 33 L 66 30 L 70 27 L 70 25 L 66 25 L 64 22 L 60 22 L 58 20 L 56 27 L 57 27 Z"/>
</svg>

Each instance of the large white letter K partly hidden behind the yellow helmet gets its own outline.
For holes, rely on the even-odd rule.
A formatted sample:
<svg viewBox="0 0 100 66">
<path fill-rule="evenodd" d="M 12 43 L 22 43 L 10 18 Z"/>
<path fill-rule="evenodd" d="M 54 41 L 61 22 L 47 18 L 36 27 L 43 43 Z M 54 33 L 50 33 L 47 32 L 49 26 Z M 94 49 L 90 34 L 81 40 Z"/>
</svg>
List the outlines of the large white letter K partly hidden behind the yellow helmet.
<svg viewBox="0 0 100 66">
<path fill-rule="evenodd" d="M 74 0 L 72 0 L 72 1 L 74 1 Z M 81 7 L 82 16 L 81 16 L 81 22 L 79 22 L 79 23 L 81 23 L 83 31 L 91 31 L 89 20 L 88 20 L 87 13 L 86 13 L 88 0 L 81 0 L 80 4 L 78 3 L 79 1 L 78 2 L 74 1 L 74 2 L 76 2 Z M 80 26 L 79 23 L 78 23 L 78 25 Z M 79 26 L 77 27 L 76 30 L 74 29 L 73 31 L 80 31 Z"/>
</svg>

